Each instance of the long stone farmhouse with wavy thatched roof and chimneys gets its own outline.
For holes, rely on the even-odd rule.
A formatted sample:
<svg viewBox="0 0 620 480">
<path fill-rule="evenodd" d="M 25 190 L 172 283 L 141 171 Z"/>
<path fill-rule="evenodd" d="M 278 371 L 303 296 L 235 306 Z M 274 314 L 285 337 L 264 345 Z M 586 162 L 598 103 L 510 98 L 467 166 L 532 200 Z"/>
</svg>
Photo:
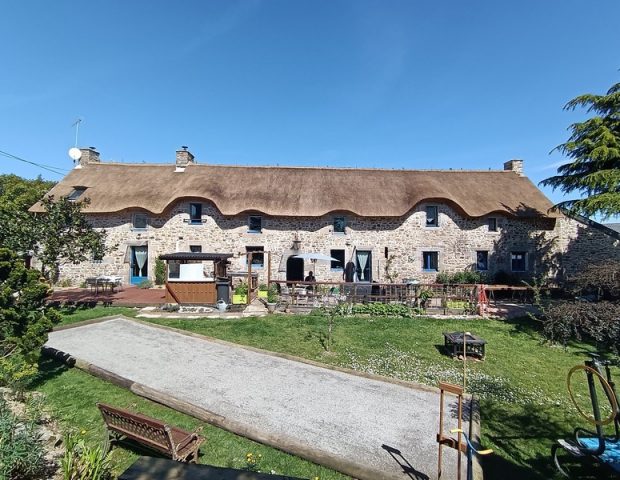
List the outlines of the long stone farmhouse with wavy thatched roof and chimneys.
<svg viewBox="0 0 620 480">
<path fill-rule="evenodd" d="M 186 148 L 175 164 L 102 162 L 81 149 L 78 165 L 50 192 L 90 199 L 84 212 L 108 233 L 102 259 L 63 265 L 74 284 L 119 275 L 154 278 L 155 260 L 172 252 L 232 253 L 230 270 L 266 279 L 342 281 L 353 262 L 361 282 L 432 282 L 438 272 L 563 276 L 620 258 L 620 235 L 550 211 L 523 173 L 503 170 L 382 170 L 199 164 Z M 42 212 L 40 204 L 31 208 Z M 615 235 L 614 235 L 615 233 Z M 318 252 L 337 261 L 295 258 Z"/>
</svg>

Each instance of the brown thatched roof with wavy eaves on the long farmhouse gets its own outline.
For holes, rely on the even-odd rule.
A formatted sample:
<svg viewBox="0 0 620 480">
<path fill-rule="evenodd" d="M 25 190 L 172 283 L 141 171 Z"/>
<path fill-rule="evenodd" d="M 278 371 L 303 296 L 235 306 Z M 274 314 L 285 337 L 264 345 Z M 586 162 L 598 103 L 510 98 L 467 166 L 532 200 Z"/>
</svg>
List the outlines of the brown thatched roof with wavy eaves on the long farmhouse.
<svg viewBox="0 0 620 480">
<path fill-rule="evenodd" d="M 316 217 L 351 212 L 399 217 L 423 201 L 447 202 L 469 217 L 492 212 L 546 216 L 551 202 L 512 171 L 379 170 L 91 163 L 72 170 L 50 192 L 86 187 L 87 213 L 143 209 L 161 214 L 181 199 L 205 200 L 224 215 L 260 212 Z M 40 204 L 31 211 L 42 211 Z M 555 216 L 555 215 L 552 215 Z"/>
</svg>

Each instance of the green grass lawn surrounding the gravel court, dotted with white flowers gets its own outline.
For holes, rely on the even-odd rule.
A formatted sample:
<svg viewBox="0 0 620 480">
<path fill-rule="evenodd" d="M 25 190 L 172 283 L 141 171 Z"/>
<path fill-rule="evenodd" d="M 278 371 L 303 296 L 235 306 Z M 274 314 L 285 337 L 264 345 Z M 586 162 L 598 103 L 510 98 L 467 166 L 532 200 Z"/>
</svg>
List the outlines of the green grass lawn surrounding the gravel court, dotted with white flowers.
<svg viewBox="0 0 620 480">
<path fill-rule="evenodd" d="M 97 308 L 66 315 L 63 323 L 107 316 L 111 308 Z M 78 317 L 79 316 L 79 317 Z M 484 462 L 486 478 L 548 479 L 554 475 L 549 451 L 557 438 L 569 436 L 577 425 L 586 426 L 574 413 L 566 395 L 566 373 L 581 363 L 584 345 L 564 350 L 541 344 L 537 325 L 528 319 L 516 321 L 336 318 L 331 352 L 325 349 L 326 322 L 320 316 L 275 315 L 263 318 L 149 320 L 231 342 L 274 352 L 436 385 L 437 381 L 462 381 L 462 362 L 443 354 L 442 332 L 467 330 L 488 341 L 487 359 L 468 363 L 469 392 L 481 399 L 482 435 L 485 448 L 495 454 Z M 49 367 L 48 367 L 49 368 Z M 615 372 L 617 373 L 617 372 Z M 70 370 L 49 375 L 39 389 L 48 393 L 54 410 L 62 418 L 76 415 L 75 423 L 102 434 L 95 401 L 104 400 L 138 409 L 175 423 L 193 426 L 196 421 L 169 409 L 139 399 L 82 372 Z M 67 392 L 80 392 L 74 398 Z M 585 391 L 581 392 L 585 395 Z M 176 420 L 178 419 L 178 420 Z M 209 428 L 212 438 L 205 461 L 216 465 L 243 465 L 247 452 L 262 452 L 268 468 L 302 477 L 339 478 L 317 470 L 294 457 Z M 217 438 L 218 440 L 214 439 Z M 226 440 L 220 440 L 225 438 Z M 224 442 L 225 448 L 219 444 Z M 213 449 L 213 450 L 212 450 Z M 120 449 L 119 449 L 120 450 Z M 120 465 L 130 458 L 116 452 Z M 239 463 L 241 462 L 241 463 Z M 277 465 L 277 467 L 276 467 Z M 341 477 L 342 478 L 342 477 Z M 602 477 L 601 477 L 602 478 Z"/>
</svg>

